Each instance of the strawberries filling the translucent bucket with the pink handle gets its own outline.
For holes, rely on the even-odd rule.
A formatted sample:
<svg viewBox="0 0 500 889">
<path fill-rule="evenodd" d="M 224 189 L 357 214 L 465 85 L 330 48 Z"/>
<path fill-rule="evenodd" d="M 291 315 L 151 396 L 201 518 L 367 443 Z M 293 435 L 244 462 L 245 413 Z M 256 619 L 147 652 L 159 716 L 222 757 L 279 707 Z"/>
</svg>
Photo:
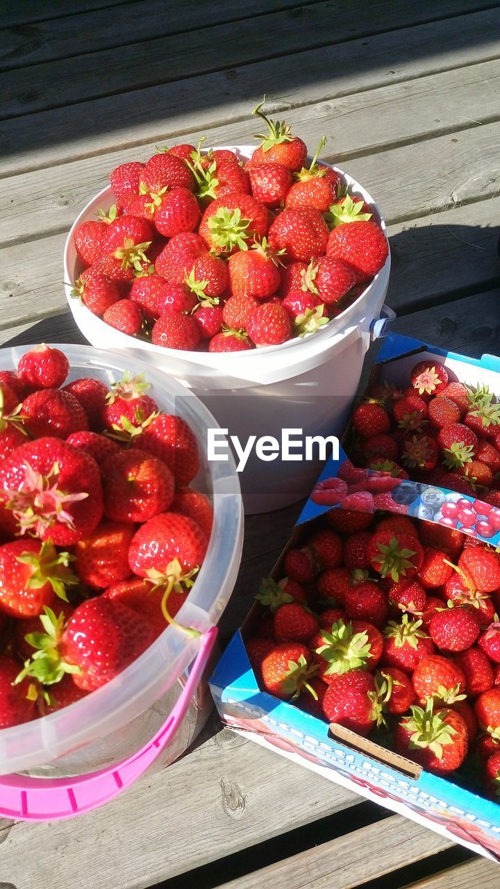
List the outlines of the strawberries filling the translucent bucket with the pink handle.
<svg viewBox="0 0 500 889">
<path fill-rule="evenodd" d="M 0 372 L 0 728 L 144 652 L 175 622 L 212 530 L 188 424 L 142 378 L 64 385 L 68 373 L 44 345 Z"/>
</svg>

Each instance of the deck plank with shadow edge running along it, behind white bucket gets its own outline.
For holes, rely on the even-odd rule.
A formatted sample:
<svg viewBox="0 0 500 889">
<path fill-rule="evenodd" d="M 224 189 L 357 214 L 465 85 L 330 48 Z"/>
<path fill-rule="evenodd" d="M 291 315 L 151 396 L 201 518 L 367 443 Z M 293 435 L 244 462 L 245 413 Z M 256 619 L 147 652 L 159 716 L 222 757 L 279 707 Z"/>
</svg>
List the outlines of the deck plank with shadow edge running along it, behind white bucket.
<svg viewBox="0 0 500 889">
<path fill-rule="evenodd" d="M 500 9 L 477 12 L 4 121 L 0 173 L 246 119 L 266 91 L 294 108 L 491 60 L 499 25 Z"/>
</svg>

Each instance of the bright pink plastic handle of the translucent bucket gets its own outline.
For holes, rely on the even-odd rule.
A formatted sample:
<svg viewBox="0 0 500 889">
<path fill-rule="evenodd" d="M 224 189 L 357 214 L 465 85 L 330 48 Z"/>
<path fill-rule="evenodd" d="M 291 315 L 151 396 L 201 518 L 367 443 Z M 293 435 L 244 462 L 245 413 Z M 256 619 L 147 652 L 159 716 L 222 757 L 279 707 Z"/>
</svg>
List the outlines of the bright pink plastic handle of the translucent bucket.
<svg viewBox="0 0 500 889">
<path fill-rule="evenodd" d="M 216 637 L 216 627 L 211 627 L 203 635 L 196 660 L 172 713 L 138 753 L 133 753 L 121 763 L 99 772 L 73 778 L 3 775 L 0 777 L 0 815 L 23 821 L 59 821 L 109 803 L 130 787 L 172 741 L 203 676 Z"/>
</svg>

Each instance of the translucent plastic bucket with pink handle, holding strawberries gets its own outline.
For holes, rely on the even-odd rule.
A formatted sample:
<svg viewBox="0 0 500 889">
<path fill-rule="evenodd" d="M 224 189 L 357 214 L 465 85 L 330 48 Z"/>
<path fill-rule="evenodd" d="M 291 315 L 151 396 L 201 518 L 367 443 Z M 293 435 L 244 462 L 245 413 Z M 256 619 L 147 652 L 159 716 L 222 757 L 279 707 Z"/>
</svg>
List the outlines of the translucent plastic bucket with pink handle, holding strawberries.
<svg viewBox="0 0 500 889">
<path fill-rule="evenodd" d="M 0 369 L 17 366 L 27 348 L 0 350 Z M 206 428 L 216 423 L 198 398 L 131 354 L 124 360 L 123 353 L 61 348 L 69 357 L 69 380 L 93 376 L 109 383 L 125 369 L 145 373 L 159 406 L 190 424 L 201 458 L 194 484 L 213 500 L 214 528 L 177 617 L 183 626 L 199 629 L 199 637 L 169 626 L 108 685 L 50 716 L 0 731 L 0 815 L 34 820 L 71 817 L 101 805 L 155 760 L 168 765 L 190 744 L 211 709 L 202 680 L 243 543 L 234 463 L 206 461 Z"/>
</svg>

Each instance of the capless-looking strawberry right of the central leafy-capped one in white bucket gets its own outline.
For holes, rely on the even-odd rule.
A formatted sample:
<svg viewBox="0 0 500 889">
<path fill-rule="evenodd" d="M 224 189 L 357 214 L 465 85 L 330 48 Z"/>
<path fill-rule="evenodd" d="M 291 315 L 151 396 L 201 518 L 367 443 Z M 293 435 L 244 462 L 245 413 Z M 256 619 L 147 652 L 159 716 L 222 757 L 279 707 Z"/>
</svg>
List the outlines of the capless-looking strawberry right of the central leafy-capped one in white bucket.
<svg viewBox="0 0 500 889">
<path fill-rule="evenodd" d="M 327 240 L 327 223 L 312 207 L 278 213 L 269 230 L 272 249 L 284 250 L 290 260 L 299 262 L 310 262 L 313 257 L 322 256 Z"/>
</svg>

